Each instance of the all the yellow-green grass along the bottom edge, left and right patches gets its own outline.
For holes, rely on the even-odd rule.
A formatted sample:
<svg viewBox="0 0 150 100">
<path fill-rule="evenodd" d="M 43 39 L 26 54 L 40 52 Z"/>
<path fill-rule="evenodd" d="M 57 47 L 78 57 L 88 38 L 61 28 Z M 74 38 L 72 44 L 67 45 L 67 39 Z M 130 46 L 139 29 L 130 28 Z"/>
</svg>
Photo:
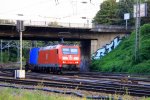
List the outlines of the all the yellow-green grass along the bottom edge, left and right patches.
<svg viewBox="0 0 150 100">
<path fill-rule="evenodd" d="M 42 85 L 40 86 L 43 87 Z M 39 88 L 39 87 L 38 87 Z M 90 94 L 91 95 L 91 94 Z M 117 100 L 120 95 L 105 94 L 105 96 L 114 97 Z M 121 96 L 123 100 L 150 100 L 145 97 L 132 97 L 128 94 Z M 86 97 L 79 98 L 73 95 L 65 95 L 51 92 L 44 92 L 39 90 L 26 90 L 14 88 L 0 88 L 0 100 L 90 100 Z"/>
</svg>

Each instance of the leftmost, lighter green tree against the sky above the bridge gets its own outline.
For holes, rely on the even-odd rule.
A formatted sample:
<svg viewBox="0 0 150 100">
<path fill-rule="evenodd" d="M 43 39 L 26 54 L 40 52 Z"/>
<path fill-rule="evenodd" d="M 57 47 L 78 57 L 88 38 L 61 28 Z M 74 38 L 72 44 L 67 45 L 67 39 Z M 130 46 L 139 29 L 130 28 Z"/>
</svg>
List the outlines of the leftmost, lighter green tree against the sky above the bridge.
<svg viewBox="0 0 150 100">
<path fill-rule="evenodd" d="M 94 17 L 93 22 L 96 24 L 115 24 L 119 20 L 116 12 L 116 0 L 106 0 L 100 5 L 100 10 Z"/>
</svg>

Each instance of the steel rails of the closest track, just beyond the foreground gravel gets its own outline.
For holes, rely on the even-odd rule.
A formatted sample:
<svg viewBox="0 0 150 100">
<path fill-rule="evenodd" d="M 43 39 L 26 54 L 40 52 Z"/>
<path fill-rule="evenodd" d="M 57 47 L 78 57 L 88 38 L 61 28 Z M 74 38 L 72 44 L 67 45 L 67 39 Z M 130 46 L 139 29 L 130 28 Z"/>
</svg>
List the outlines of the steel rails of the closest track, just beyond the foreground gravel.
<svg viewBox="0 0 150 100">
<path fill-rule="evenodd" d="M 55 82 L 55 81 L 44 81 L 44 80 L 31 80 L 31 79 L 12 79 L 12 78 L 0 78 L 0 81 L 3 82 L 9 82 L 9 83 L 15 83 L 15 84 L 26 84 L 26 85 L 39 85 L 42 84 L 43 86 L 50 86 L 50 87 L 61 87 L 61 88 L 72 88 L 72 89 L 80 89 L 80 90 L 87 90 L 87 91 L 94 91 L 94 92 L 106 92 L 106 93 L 119 93 L 119 94 L 126 94 L 126 91 L 130 95 L 135 96 L 150 96 L 149 90 L 134 90 L 134 89 L 127 89 L 122 88 L 120 86 L 111 85 L 111 87 L 100 86 L 99 84 L 97 86 L 93 85 L 86 85 L 86 84 L 72 84 L 72 83 L 66 83 L 66 82 Z"/>
</svg>

